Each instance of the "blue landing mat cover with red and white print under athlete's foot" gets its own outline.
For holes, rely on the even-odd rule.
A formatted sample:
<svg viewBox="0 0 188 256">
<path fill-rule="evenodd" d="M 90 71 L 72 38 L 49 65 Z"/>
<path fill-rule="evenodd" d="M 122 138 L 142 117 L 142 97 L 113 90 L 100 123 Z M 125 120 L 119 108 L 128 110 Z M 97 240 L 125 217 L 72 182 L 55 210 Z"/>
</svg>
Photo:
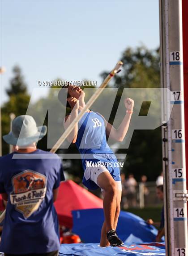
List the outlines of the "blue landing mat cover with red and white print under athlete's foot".
<svg viewBox="0 0 188 256">
<path fill-rule="evenodd" d="M 164 243 L 126 244 L 121 247 L 99 247 L 98 244 L 63 244 L 60 256 L 165 256 Z"/>
</svg>

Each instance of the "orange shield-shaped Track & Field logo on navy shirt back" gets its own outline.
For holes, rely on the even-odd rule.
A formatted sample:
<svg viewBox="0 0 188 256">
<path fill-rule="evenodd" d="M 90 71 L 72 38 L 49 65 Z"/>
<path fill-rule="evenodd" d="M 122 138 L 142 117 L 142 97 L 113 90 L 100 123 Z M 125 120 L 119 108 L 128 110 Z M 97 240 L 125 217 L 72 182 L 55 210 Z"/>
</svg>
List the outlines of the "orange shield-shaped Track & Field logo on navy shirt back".
<svg viewBox="0 0 188 256">
<path fill-rule="evenodd" d="M 13 192 L 10 202 L 27 219 L 38 210 L 46 194 L 45 175 L 32 170 L 23 171 L 12 178 Z"/>
</svg>

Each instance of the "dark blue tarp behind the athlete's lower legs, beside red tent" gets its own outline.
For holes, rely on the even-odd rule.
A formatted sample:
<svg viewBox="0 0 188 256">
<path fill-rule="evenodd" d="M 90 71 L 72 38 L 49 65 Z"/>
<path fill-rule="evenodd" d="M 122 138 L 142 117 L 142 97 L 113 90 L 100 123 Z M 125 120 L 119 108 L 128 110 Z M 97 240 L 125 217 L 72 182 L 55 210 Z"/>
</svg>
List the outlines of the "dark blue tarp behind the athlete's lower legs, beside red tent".
<svg viewBox="0 0 188 256">
<path fill-rule="evenodd" d="M 73 233 L 78 234 L 83 243 L 99 243 L 104 221 L 103 209 L 72 211 L 72 214 Z M 125 243 L 152 243 L 158 233 L 154 226 L 126 211 L 120 212 L 117 232 Z"/>
</svg>

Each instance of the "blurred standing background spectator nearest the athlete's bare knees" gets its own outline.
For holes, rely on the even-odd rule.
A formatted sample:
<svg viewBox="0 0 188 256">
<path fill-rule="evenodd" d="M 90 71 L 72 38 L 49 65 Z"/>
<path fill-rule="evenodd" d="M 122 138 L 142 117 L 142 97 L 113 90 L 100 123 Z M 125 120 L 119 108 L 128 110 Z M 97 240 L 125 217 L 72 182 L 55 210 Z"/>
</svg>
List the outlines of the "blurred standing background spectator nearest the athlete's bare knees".
<svg viewBox="0 0 188 256">
<path fill-rule="evenodd" d="M 134 175 L 130 173 L 128 175 L 128 180 L 126 181 L 127 185 L 127 201 L 128 207 L 137 207 L 137 181 L 134 178 Z"/>
</svg>

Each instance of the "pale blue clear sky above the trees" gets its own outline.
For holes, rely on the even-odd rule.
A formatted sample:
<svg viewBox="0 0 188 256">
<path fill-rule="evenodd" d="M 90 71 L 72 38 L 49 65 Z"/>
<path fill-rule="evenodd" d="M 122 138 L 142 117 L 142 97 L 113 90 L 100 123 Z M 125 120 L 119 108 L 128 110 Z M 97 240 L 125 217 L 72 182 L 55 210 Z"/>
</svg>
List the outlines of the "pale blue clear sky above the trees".
<svg viewBox="0 0 188 256">
<path fill-rule="evenodd" d="M 57 78 L 100 85 L 128 46 L 159 46 L 158 0 L 1 0 L 0 17 L 1 104 L 16 64 L 32 94 Z"/>
</svg>

